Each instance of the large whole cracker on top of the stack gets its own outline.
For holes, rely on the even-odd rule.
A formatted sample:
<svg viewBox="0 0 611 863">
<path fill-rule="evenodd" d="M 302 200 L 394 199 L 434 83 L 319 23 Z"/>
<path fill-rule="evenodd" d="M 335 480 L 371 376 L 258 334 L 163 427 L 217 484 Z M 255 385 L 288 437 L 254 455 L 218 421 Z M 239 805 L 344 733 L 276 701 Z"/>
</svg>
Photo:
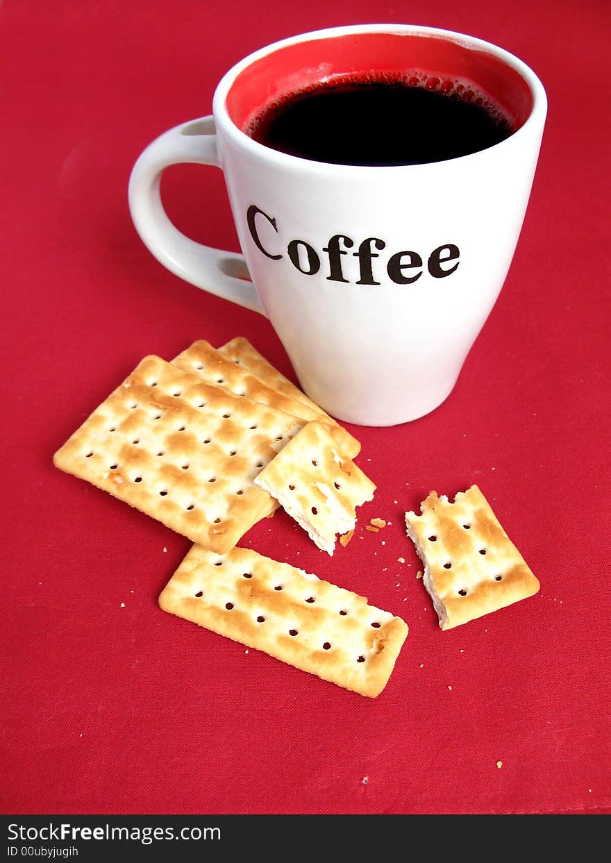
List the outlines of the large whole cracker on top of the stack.
<svg viewBox="0 0 611 863">
<path fill-rule="evenodd" d="M 253 480 L 303 425 L 147 356 L 54 464 L 224 552 L 277 506 Z"/>
</svg>

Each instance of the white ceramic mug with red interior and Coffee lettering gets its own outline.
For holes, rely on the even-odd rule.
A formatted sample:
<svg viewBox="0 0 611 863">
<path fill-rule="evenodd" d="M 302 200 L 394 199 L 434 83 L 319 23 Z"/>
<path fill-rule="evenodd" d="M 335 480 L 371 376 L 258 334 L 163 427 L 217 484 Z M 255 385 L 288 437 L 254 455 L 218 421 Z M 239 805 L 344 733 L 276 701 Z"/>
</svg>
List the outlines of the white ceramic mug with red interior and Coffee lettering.
<svg viewBox="0 0 611 863">
<path fill-rule="evenodd" d="M 244 131 L 275 98 L 388 71 L 428 87 L 473 86 L 515 130 L 477 153 L 398 167 L 309 161 Z M 357 425 L 396 425 L 450 394 L 494 306 L 545 113 L 534 72 L 470 36 L 399 24 L 298 35 L 227 72 L 211 117 L 150 144 L 131 174 L 129 208 L 143 242 L 173 273 L 267 315 L 305 393 L 325 411 Z M 184 162 L 223 170 L 243 256 L 194 243 L 169 221 L 161 173 Z"/>
</svg>

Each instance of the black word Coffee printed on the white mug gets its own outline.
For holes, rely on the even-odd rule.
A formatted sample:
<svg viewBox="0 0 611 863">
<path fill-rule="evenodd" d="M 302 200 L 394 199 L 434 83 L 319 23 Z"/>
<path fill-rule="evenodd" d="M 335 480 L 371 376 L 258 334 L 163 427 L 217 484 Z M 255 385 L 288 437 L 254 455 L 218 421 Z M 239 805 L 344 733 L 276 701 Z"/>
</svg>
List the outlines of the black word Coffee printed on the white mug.
<svg viewBox="0 0 611 863">
<path fill-rule="evenodd" d="M 259 233 L 259 219 L 266 220 L 278 233 L 276 218 L 269 216 L 268 213 L 261 210 L 255 204 L 251 204 L 246 213 L 246 221 L 249 225 L 250 236 L 257 249 L 272 261 L 280 261 L 284 255 L 274 249 L 271 251 L 266 248 L 261 241 Z M 271 247 L 272 243 L 268 243 Z M 329 275 L 326 276 L 328 281 L 343 281 L 350 282 L 350 279 L 344 277 L 342 266 L 342 255 L 349 255 L 346 249 L 352 249 L 355 241 L 350 236 L 343 234 L 334 234 L 330 237 L 328 243 L 322 251 L 327 255 L 329 263 Z M 378 251 L 374 251 L 377 249 Z M 357 285 L 380 285 L 380 281 L 376 281 L 373 272 L 373 259 L 379 258 L 382 249 L 386 249 L 386 243 L 377 236 L 368 236 L 359 243 L 356 252 L 352 252 L 352 256 L 358 258 L 359 279 Z M 299 270 L 299 273 L 304 275 L 315 275 L 320 270 L 320 255 L 311 243 L 306 243 L 305 240 L 291 240 L 287 244 L 287 255 L 293 267 Z M 428 255 L 426 268 L 434 279 L 444 279 L 446 275 L 456 273 L 458 268 L 458 258 L 460 251 L 454 243 L 445 243 L 433 249 Z M 418 280 L 424 272 L 424 261 L 418 252 L 409 250 L 394 252 L 387 260 L 386 271 L 388 278 L 394 281 L 397 285 L 411 285 Z"/>
</svg>

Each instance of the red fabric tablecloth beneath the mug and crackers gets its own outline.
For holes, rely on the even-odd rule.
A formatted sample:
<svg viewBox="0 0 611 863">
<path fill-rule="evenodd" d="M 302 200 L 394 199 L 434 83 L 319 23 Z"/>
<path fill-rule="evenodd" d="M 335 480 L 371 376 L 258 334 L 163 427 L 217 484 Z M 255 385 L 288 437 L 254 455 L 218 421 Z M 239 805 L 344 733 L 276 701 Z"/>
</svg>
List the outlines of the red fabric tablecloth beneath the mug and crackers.
<svg viewBox="0 0 611 863">
<path fill-rule="evenodd" d="M 605 0 L 510 7 L 2 4 L 3 811 L 609 811 L 611 21 Z M 129 171 L 255 48 L 405 20 L 507 47 L 550 115 L 513 267 L 455 391 L 417 422 L 351 429 L 378 484 L 355 539 L 331 559 L 277 513 L 243 540 L 405 618 L 371 701 L 163 614 L 188 541 L 51 459 L 145 354 L 244 335 L 292 375 L 265 319 L 148 254 Z M 164 194 L 180 228 L 237 249 L 220 172 L 175 167 Z M 542 587 L 442 633 L 402 513 L 473 482 Z M 374 516 L 391 524 L 366 532 Z"/>
</svg>

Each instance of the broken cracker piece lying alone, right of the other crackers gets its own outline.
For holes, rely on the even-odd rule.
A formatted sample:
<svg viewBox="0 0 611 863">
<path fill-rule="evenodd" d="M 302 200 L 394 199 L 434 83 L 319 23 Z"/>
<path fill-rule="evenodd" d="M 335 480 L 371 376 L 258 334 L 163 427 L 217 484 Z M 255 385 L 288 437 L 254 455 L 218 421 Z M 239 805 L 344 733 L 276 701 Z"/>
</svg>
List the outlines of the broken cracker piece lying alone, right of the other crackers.
<svg viewBox="0 0 611 863">
<path fill-rule="evenodd" d="M 407 535 L 425 564 L 423 581 L 442 629 L 537 593 L 539 581 L 476 485 L 453 503 L 431 491 L 420 512 L 406 513 Z"/>
</svg>

